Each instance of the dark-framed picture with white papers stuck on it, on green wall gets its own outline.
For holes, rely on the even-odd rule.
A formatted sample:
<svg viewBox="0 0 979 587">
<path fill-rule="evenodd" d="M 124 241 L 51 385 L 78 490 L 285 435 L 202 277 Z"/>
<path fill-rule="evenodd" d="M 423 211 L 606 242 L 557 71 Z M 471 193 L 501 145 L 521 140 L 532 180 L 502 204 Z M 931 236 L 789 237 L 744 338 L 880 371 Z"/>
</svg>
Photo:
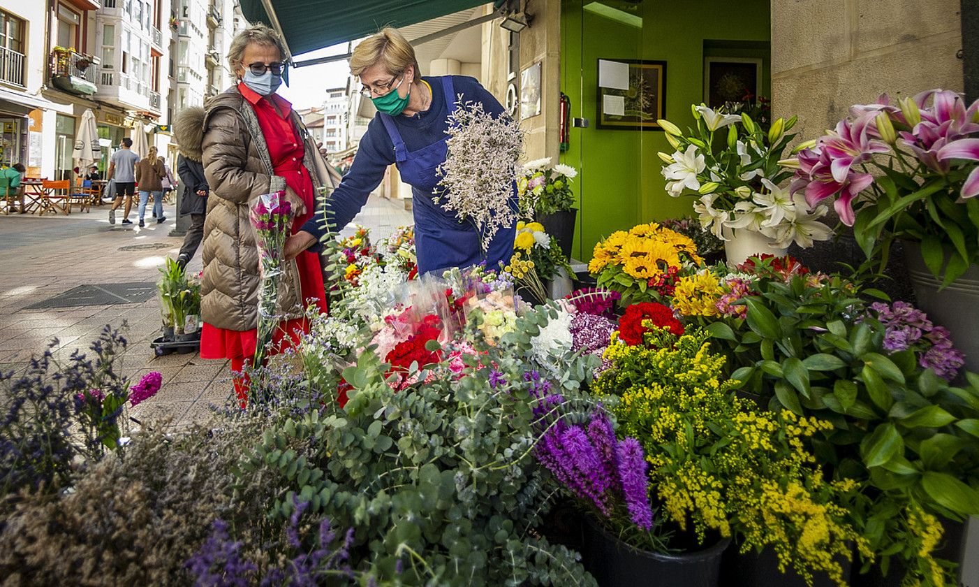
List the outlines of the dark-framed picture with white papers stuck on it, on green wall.
<svg viewBox="0 0 979 587">
<path fill-rule="evenodd" d="M 662 130 L 666 118 L 667 62 L 598 60 L 596 128 Z"/>
</svg>

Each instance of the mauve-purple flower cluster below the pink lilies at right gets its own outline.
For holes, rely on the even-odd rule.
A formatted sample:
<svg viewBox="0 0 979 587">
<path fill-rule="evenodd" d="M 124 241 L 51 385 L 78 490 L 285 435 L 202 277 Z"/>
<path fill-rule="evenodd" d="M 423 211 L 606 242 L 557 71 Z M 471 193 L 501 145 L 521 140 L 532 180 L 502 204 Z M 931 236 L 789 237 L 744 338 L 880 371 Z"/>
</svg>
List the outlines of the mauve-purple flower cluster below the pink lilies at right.
<svg viewBox="0 0 979 587">
<path fill-rule="evenodd" d="M 949 330 L 932 324 L 925 313 L 907 302 L 870 305 L 884 325 L 884 349 L 891 353 L 918 351 L 918 365 L 931 368 L 940 377 L 952 380 L 965 364 L 963 355 L 952 343 Z"/>
</svg>

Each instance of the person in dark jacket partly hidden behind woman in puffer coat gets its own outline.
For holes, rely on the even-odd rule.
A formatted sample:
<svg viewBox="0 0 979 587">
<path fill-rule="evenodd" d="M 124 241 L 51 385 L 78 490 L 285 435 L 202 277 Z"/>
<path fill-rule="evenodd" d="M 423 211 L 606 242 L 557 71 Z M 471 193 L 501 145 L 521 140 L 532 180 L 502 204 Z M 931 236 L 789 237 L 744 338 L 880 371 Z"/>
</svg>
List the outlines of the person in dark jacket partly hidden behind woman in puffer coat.
<svg viewBox="0 0 979 587">
<path fill-rule="evenodd" d="M 180 215 L 189 214 L 190 228 L 177 256 L 180 267 L 186 267 L 204 237 L 204 218 L 208 213 L 210 187 L 201 164 L 201 140 L 204 134 L 204 109 L 188 108 L 177 115 L 174 134 L 177 139 L 177 176 L 184 186 Z"/>
</svg>

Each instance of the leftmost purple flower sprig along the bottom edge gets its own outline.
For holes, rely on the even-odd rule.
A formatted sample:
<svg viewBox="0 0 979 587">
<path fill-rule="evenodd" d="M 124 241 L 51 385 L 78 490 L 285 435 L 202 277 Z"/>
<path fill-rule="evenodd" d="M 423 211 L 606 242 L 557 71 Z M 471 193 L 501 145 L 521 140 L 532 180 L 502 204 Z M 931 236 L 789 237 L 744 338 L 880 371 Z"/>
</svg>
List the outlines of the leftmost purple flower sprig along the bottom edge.
<svg viewBox="0 0 979 587">
<path fill-rule="evenodd" d="M 184 563 L 194 577 L 194 586 L 246 587 L 258 567 L 242 559 L 242 543 L 228 536 L 227 522 L 215 519 L 211 528 L 208 540 L 197 554 Z"/>
</svg>

